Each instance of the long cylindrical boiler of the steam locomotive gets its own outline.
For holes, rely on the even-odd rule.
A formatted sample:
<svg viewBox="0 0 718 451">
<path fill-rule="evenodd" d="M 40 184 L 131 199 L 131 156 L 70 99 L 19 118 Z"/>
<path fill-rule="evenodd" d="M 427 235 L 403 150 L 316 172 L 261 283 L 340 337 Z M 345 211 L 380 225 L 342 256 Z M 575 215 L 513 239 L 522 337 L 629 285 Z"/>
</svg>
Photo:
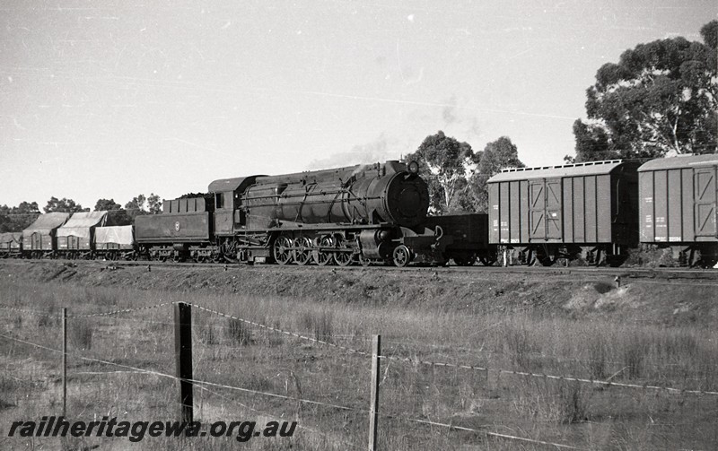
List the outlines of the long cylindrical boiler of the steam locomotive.
<svg viewBox="0 0 718 451">
<path fill-rule="evenodd" d="M 284 224 L 378 224 L 414 227 L 426 218 L 423 178 L 398 161 L 258 177 L 241 196 L 253 229 Z"/>
</svg>

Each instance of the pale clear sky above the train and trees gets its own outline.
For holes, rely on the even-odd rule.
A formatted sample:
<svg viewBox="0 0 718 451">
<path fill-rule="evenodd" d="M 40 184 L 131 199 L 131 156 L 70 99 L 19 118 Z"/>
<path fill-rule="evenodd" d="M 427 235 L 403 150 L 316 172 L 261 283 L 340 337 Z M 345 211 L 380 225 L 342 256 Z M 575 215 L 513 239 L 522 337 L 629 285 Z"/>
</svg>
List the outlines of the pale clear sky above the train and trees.
<svg viewBox="0 0 718 451">
<path fill-rule="evenodd" d="M 714 0 L 0 0 L 0 204 L 171 199 L 445 134 L 574 154 L 601 65 Z"/>
</svg>

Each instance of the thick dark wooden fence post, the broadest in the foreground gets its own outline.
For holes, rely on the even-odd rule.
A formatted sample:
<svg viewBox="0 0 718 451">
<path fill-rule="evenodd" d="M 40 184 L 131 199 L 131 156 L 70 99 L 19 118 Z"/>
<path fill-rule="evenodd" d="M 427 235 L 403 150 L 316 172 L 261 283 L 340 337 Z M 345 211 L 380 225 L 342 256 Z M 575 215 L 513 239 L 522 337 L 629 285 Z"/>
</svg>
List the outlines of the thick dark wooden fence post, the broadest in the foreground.
<svg viewBox="0 0 718 451">
<path fill-rule="evenodd" d="M 188 304 L 174 306 L 174 351 L 177 377 L 180 377 L 180 421 L 194 421 L 192 395 L 192 310 Z"/>
</svg>

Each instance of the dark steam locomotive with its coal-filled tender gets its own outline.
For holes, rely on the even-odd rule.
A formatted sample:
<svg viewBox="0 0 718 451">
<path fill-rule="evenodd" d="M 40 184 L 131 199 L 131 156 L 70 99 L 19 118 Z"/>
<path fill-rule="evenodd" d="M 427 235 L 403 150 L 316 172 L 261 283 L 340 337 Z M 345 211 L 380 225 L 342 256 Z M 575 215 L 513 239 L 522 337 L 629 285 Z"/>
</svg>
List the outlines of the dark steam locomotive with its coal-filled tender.
<svg viewBox="0 0 718 451">
<path fill-rule="evenodd" d="M 451 237 L 426 227 L 416 162 L 215 180 L 208 198 L 136 218 L 151 259 L 350 265 L 442 261 Z"/>
</svg>

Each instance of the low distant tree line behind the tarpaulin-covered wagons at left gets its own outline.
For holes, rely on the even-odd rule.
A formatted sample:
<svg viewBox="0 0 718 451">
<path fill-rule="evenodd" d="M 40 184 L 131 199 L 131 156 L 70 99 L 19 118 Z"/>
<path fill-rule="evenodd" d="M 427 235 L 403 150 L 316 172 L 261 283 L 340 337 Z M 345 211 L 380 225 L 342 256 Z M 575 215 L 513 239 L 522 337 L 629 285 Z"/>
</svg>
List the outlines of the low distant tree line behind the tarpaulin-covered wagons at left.
<svg viewBox="0 0 718 451">
<path fill-rule="evenodd" d="M 90 208 L 84 208 L 73 199 L 63 197 L 58 199 L 50 197 L 48 204 L 42 208 L 42 212 L 89 212 Z M 108 222 L 110 225 L 131 224 L 136 216 L 141 214 L 157 214 L 162 212 L 162 198 L 152 193 L 151 195 L 136 195 L 123 207 L 114 199 L 98 199 L 94 207 L 95 212 L 109 212 Z M 33 221 L 42 213 L 37 202 L 21 202 L 19 205 L 9 207 L 0 205 L 0 232 L 22 231 L 27 229 Z"/>
</svg>

